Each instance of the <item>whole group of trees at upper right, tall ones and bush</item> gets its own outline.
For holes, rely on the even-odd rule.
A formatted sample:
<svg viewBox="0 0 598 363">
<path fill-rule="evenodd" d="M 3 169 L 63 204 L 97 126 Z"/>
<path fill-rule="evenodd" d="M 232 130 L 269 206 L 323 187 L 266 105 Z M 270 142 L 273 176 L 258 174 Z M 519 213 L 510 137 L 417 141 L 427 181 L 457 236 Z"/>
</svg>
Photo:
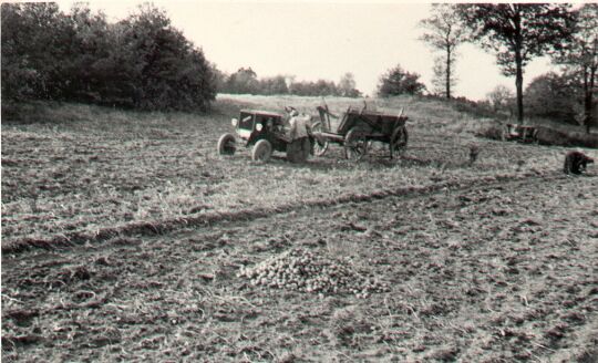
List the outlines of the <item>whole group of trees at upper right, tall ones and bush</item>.
<svg viewBox="0 0 598 363">
<path fill-rule="evenodd" d="M 435 93 L 453 96 L 456 50 L 471 42 L 495 53 L 502 73 L 515 79 L 512 96 L 504 89 L 489 94 L 491 102 L 502 100 L 495 107 L 508 107 L 518 122 L 524 115 L 549 117 L 584 124 L 588 133 L 598 126 L 597 3 L 433 4 L 421 25 L 425 33 L 420 39 L 436 54 Z M 544 74 L 524 90 L 526 65 L 543 55 L 561 68 L 560 74 Z"/>
</svg>

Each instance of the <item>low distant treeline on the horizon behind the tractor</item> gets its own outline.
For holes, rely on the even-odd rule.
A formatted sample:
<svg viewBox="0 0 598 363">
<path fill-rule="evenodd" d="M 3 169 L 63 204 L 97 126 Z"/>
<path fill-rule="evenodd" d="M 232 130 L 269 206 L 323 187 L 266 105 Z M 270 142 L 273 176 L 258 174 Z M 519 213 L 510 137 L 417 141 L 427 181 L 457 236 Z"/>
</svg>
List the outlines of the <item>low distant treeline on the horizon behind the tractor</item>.
<svg viewBox="0 0 598 363">
<path fill-rule="evenodd" d="M 241 68 L 233 74 L 216 71 L 217 90 L 220 93 L 261 94 L 298 96 L 344 96 L 358 97 L 361 92 L 355 89 L 352 73 L 346 73 L 339 83 L 327 80 L 316 82 L 295 81 L 295 76 L 276 75 L 258 79 L 251 68 Z"/>
</svg>

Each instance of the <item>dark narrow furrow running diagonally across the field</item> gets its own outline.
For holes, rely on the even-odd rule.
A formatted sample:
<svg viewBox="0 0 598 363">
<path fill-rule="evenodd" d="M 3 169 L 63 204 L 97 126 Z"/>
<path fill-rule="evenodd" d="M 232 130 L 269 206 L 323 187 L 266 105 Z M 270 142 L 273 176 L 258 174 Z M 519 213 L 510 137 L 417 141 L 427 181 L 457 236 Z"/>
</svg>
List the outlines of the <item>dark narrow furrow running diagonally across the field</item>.
<svg viewBox="0 0 598 363">
<path fill-rule="evenodd" d="M 439 193 L 441 190 L 451 188 L 456 191 L 466 191 L 472 188 L 487 188 L 496 185 L 512 184 L 520 180 L 527 182 L 549 182 L 564 176 L 556 173 L 529 173 L 523 175 L 497 175 L 495 177 L 483 177 L 474 179 L 463 180 L 450 180 L 445 183 L 437 183 L 425 187 L 396 187 L 386 188 L 383 190 L 377 190 L 369 194 L 350 194 L 338 198 L 320 199 L 301 204 L 286 204 L 275 206 L 271 208 L 250 208 L 231 212 L 206 212 L 196 217 L 181 217 L 166 220 L 146 221 L 146 222 L 130 222 L 118 227 L 103 228 L 90 232 L 68 232 L 54 236 L 49 239 L 32 239 L 25 238 L 21 240 L 14 240 L 10 243 L 2 245 L 3 253 L 19 253 L 31 248 L 43 249 L 56 249 L 66 248 L 81 243 L 97 243 L 115 237 L 131 237 L 131 236 L 152 236 L 164 235 L 167 232 L 176 231 L 182 228 L 200 227 L 206 225 L 218 224 L 229 220 L 252 220 L 256 218 L 268 217 L 275 212 L 290 212 L 293 210 L 300 210 L 306 208 L 326 208 L 334 205 L 342 205 L 348 203 L 369 203 L 375 199 L 382 199 L 388 197 L 417 197 L 422 195 L 429 195 Z"/>
</svg>

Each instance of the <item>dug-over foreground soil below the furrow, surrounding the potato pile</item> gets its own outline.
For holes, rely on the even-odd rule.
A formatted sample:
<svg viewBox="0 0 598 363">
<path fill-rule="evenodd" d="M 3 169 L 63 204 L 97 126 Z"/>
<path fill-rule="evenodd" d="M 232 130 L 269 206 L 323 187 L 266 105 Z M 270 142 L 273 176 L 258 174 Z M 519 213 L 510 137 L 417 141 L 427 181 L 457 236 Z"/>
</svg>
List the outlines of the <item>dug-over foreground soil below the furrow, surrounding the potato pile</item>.
<svg viewBox="0 0 598 363">
<path fill-rule="evenodd" d="M 4 257 L 3 359 L 590 362 L 597 189 L 555 174 Z M 296 247 L 390 291 L 237 276 Z"/>
</svg>

